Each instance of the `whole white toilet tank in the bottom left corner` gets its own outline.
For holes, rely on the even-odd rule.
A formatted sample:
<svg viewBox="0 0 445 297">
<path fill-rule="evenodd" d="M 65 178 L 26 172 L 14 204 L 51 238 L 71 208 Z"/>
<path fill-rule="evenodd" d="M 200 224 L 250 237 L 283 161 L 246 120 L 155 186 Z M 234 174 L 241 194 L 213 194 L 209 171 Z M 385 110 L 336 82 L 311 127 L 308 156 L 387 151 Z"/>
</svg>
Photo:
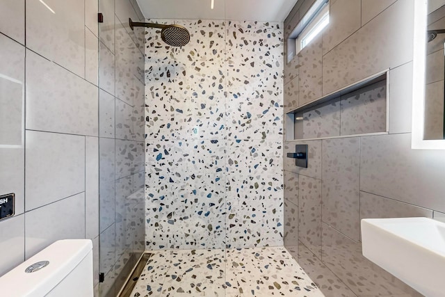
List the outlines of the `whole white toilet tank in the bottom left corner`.
<svg viewBox="0 0 445 297">
<path fill-rule="evenodd" d="M 31 268 L 28 270 L 32 273 L 25 272 L 29 266 Z M 14 297 L 93 296 L 91 241 L 56 241 L 3 275 L 0 278 L 0 291 L 1 296 Z"/>
</svg>

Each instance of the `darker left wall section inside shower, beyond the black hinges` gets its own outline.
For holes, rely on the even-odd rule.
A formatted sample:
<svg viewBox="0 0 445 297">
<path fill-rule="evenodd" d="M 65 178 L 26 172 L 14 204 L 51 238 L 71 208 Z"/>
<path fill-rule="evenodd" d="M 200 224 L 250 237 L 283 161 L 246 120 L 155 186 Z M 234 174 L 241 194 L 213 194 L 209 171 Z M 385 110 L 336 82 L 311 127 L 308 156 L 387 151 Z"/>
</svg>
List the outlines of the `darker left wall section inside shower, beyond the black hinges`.
<svg viewBox="0 0 445 297">
<path fill-rule="evenodd" d="M 144 30 L 136 1 L 99 0 L 100 296 L 117 296 L 145 250 Z"/>
</svg>

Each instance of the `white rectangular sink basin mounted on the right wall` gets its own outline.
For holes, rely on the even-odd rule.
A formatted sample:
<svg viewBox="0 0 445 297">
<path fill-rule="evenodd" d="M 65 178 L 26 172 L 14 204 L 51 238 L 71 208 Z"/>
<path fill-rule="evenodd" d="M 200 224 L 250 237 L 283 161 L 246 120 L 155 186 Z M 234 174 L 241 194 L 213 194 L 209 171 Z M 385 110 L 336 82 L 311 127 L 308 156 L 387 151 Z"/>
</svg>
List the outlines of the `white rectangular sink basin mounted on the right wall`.
<svg viewBox="0 0 445 297">
<path fill-rule="evenodd" d="M 445 223 L 431 218 L 365 218 L 364 257 L 425 296 L 445 294 Z"/>
</svg>

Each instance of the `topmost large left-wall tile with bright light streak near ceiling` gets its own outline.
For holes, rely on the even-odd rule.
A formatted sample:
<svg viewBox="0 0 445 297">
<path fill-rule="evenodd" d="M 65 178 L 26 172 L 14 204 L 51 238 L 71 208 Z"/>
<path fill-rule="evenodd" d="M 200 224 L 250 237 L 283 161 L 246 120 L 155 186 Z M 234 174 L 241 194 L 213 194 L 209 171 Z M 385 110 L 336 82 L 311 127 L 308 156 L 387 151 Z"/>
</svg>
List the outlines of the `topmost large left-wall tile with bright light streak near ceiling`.
<svg viewBox="0 0 445 297">
<path fill-rule="evenodd" d="M 26 1 L 26 47 L 85 77 L 84 0 Z"/>
</svg>

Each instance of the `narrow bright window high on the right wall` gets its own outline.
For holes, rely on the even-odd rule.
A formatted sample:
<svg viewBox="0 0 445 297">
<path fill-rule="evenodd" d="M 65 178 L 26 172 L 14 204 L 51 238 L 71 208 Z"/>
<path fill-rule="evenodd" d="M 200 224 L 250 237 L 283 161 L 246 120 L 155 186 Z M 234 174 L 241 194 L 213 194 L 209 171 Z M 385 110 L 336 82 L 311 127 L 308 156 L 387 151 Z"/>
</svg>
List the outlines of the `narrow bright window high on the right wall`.
<svg viewBox="0 0 445 297">
<path fill-rule="evenodd" d="M 287 62 L 314 40 L 329 24 L 329 0 L 316 0 L 287 40 Z"/>
</svg>

